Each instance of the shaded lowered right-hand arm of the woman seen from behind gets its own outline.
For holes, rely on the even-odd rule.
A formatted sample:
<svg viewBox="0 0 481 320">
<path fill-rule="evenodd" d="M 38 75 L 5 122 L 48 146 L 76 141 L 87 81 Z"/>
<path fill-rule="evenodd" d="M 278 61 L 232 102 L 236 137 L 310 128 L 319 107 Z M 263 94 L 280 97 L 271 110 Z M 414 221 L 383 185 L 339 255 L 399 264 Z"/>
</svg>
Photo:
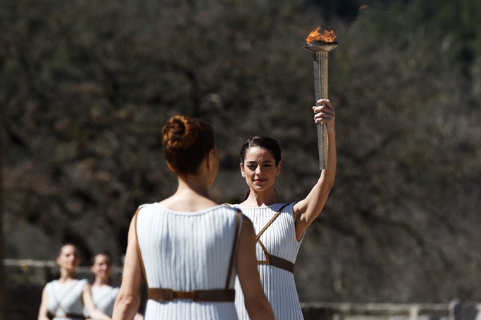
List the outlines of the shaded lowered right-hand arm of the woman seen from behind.
<svg viewBox="0 0 481 320">
<path fill-rule="evenodd" d="M 245 309 L 252 320 L 274 320 L 274 313 L 260 283 L 255 258 L 255 232 L 253 223 L 243 218 L 240 231 L 236 270 L 244 294 Z"/>
</svg>

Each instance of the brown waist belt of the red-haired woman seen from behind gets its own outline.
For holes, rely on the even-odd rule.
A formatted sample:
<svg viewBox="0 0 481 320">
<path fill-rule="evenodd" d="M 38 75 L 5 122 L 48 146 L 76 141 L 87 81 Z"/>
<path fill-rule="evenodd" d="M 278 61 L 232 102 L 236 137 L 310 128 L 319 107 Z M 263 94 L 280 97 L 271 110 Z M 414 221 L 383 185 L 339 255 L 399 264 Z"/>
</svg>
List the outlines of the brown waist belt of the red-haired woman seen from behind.
<svg viewBox="0 0 481 320">
<path fill-rule="evenodd" d="M 174 299 L 187 299 L 192 301 L 209 302 L 233 302 L 236 298 L 236 290 L 193 290 L 193 291 L 174 291 L 165 288 L 148 288 L 147 298 L 158 302 L 172 301 Z"/>
</svg>

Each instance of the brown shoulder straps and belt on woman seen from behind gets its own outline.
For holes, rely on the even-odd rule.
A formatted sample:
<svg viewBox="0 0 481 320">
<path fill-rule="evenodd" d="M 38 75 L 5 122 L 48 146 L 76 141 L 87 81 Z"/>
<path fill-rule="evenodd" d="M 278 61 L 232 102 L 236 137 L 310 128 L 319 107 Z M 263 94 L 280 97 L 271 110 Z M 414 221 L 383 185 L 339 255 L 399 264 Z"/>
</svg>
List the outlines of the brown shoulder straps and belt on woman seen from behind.
<svg viewBox="0 0 481 320">
<path fill-rule="evenodd" d="M 134 231 L 136 238 L 137 213 L 139 213 L 139 209 L 137 209 L 137 212 L 134 216 Z M 142 267 L 142 272 L 144 273 L 144 280 L 147 287 L 147 299 L 155 300 L 158 302 L 173 301 L 174 299 L 186 299 L 195 302 L 234 302 L 236 298 L 236 290 L 229 289 L 229 285 L 231 284 L 233 265 L 234 261 L 236 260 L 241 215 L 242 213 L 240 213 L 240 210 L 237 210 L 236 233 L 234 234 L 234 240 L 232 243 L 231 260 L 229 261 L 225 289 L 175 291 L 170 288 L 149 288 L 149 283 L 147 283 L 147 276 L 144 268 L 144 262 L 142 261 L 142 255 L 139 247 L 139 239 L 137 238 L 137 252 L 139 253 L 140 264 Z"/>
</svg>

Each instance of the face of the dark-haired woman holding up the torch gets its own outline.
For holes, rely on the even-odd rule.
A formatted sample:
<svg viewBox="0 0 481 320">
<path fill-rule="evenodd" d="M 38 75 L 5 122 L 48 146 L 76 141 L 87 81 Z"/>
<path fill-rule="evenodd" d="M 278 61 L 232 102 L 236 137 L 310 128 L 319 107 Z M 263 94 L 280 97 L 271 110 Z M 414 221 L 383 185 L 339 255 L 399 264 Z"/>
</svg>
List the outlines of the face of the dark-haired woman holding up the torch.
<svg viewBox="0 0 481 320">
<path fill-rule="evenodd" d="M 245 152 L 244 162 L 240 164 L 240 172 L 245 182 L 253 191 L 264 191 L 274 188 L 277 174 L 281 172 L 282 162 L 276 165 L 270 150 L 250 147 Z"/>
</svg>

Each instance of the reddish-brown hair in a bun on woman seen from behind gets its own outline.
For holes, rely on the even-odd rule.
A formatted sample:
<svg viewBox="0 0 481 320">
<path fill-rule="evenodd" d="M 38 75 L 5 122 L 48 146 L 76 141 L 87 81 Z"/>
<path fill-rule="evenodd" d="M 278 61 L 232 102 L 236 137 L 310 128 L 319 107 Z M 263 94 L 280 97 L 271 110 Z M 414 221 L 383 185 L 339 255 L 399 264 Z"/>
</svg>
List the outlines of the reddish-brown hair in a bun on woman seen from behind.
<svg viewBox="0 0 481 320">
<path fill-rule="evenodd" d="M 215 148 L 214 129 L 199 119 L 174 116 L 162 128 L 163 155 L 177 174 L 195 174 Z"/>
</svg>

